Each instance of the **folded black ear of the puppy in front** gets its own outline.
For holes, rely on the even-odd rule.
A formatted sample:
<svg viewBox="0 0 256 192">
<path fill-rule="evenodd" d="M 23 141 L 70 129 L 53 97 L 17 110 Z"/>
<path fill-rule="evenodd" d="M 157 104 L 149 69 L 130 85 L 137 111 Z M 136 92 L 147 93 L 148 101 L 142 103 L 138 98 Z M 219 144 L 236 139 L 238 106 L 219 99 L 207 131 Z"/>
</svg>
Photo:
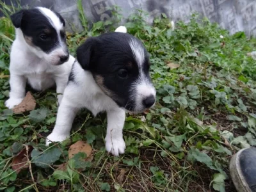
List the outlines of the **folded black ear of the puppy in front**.
<svg viewBox="0 0 256 192">
<path fill-rule="evenodd" d="M 90 67 L 90 63 L 92 62 L 93 47 L 96 41 L 97 40 L 95 37 L 90 37 L 76 50 L 77 61 L 84 70 L 88 70 Z"/>
</svg>

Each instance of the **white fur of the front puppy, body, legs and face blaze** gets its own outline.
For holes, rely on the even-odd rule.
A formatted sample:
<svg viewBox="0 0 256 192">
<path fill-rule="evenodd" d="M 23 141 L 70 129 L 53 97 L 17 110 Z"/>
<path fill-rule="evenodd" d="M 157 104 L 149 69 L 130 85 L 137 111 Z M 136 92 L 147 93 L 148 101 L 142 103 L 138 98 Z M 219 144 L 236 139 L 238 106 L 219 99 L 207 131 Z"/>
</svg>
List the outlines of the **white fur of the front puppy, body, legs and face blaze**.
<svg viewBox="0 0 256 192">
<path fill-rule="evenodd" d="M 117 32 L 125 31 L 126 28 L 118 28 Z M 120 29 L 120 30 L 119 30 Z M 122 32 L 122 33 L 125 33 Z M 134 51 L 134 57 L 137 61 L 143 62 L 141 58 L 141 48 L 136 42 L 130 42 L 131 49 Z M 144 54 L 144 53 L 143 53 Z M 143 63 L 141 63 L 142 67 Z M 72 122 L 80 108 L 87 108 L 92 111 L 93 115 L 97 115 L 101 111 L 107 112 L 108 127 L 106 134 L 106 150 L 111 154 L 118 156 L 125 152 L 125 141 L 123 139 L 122 129 L 125 122 L 125 109 L 120 108 L 113 99 L 108 97 L 93 79 L 92 73 L 83 70 L 81 65 L 76 61 L 72 68 L 72 74 L 75 82 L 69 83 L 63 93 L 63 100 L 57 113 L 56 125 L 52 133 L 47 136 L 46 145 L 52 141 L 63 141 L 70 136 Z M 152 83 L 147 82 L 147 78 L 140 70 L 140 78 L 138 82 L 134 82 L 137 93 L 136 107 L 138 110 L 143 109 L 141 106 L 142 99 L 156 95 L 156 90 Z M 131 93 L 132 94 L 132 93 Z"/>
</svg>

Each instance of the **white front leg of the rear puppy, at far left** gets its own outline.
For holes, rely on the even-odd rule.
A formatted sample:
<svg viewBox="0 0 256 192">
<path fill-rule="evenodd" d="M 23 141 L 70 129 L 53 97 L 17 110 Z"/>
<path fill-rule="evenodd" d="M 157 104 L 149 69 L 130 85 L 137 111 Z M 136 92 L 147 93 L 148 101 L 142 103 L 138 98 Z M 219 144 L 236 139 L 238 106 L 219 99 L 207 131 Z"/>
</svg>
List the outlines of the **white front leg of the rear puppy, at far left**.
<svg viewBox="0 0 256 192">
<path fill-rule="evenodd" d="M 26 91 L 26 77 L 17 74 L 11 74 L 10 77 L 10 93 L 9 99 L 6 100 L 5 106 L 12 109 L 22 102 Z"/>
</svg>

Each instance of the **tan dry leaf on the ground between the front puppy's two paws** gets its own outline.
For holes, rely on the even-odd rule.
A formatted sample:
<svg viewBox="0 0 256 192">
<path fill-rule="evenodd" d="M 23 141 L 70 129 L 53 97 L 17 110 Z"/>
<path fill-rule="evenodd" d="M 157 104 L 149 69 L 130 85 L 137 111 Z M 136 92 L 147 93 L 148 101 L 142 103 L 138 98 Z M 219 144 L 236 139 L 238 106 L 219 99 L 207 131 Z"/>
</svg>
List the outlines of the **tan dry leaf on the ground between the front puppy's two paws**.
<svg viewBox="0 0 256 192">
<path fill-rule="evenodd" d="M 84 141 L 77 141 L 68 149 L 68 158 L 71 159 L 75 154 L 79 152 L 84 152 L 87 155 L 86 161 L 90 161 L 90 156 L 92 154 L 92 147 Z M 91 160 L 92 161 L 92 160 Z"/>
</svg>

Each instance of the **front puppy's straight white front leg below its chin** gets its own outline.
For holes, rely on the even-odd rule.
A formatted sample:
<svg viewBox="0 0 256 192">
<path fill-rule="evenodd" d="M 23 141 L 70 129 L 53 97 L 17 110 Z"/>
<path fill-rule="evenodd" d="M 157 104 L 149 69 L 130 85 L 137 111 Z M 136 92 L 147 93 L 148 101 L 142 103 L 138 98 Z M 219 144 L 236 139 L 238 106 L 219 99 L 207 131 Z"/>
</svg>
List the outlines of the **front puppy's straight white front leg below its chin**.
<svg viewBox="0 0 256 192">
<path fill-rule="evenodd" d="M 106 150 L 114 156 L 124 154 L 125 142 L 123 139 L 123 127 L 125 121 L 125 111 L 121 108 L 107 111 L 108 128 L 106 141 Z"/>
</svg>

